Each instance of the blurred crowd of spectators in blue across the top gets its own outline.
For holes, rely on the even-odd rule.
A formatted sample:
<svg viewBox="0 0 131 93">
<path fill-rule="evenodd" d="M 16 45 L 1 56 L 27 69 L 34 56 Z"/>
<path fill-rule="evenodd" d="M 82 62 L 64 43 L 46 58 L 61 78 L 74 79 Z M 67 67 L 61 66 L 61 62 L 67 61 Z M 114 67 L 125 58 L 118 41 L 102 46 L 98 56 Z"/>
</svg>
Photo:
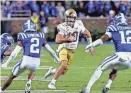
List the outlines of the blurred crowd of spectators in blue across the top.
<svg viewBox="0 0 131 93">
<path fill-rule="evenodd" d="M 47 17 L 64 17 L 65 10 L 74 8 L 78 17 L 109 16 L 110 10 L 116 14 L 122 12 L 131 16 L 131 1 L 129 0 L 89 0 L 89 1 L 6 1 L 1 2 L 2 17 L 29 17 L 33 11 L 39 16 L 41 11 Z"/>
</svg>

